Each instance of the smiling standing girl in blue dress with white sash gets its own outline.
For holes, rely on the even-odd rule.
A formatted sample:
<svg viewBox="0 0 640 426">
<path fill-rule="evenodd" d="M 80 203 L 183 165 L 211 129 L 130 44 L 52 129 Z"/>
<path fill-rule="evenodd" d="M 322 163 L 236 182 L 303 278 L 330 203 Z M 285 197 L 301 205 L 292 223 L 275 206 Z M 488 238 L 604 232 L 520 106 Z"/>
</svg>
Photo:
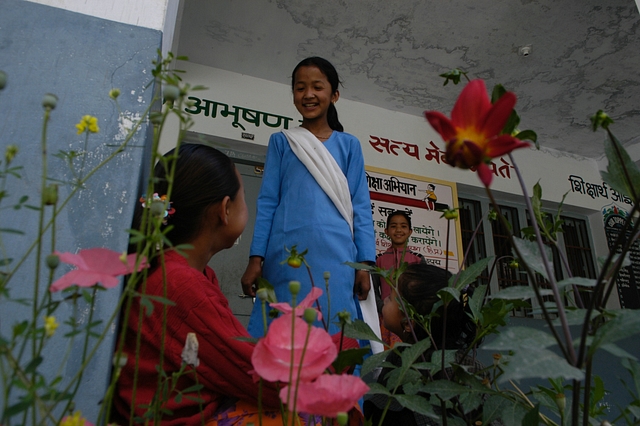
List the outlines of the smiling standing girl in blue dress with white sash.
<svg viewBox="0 0 640 426">
<path fill-rule="evenodd" d="M 344 262 L 373 264 L 375 240 L 371 201 L 358 139 L 343 132 L 335 103 L 340 79 L 331 63 L 319 57 L 293 70 L 293 104 L 302 115 L 300 127 L 269 139 L 249 265 L 242 277 L 245 294 L 255 295 L 258 277 L 275 288 L 279 302 L 289 301 L 288 283 L 302 283 L 299 299 L 311 291 L 305 268 L 282 262 L 288 249 L 308 250 L 305 259 L 316 286 L 329 289 L 319 299 L 325 317 L 347 311 L 360 317 L 358 299 L 370 289 L 367 271 Z M 330 307 L 329 307 L 330 304 Z M 328 317 L 329 332 L 339 331 Z M 263 334 L 261 304 L 256 303 L 249 332 Z"/>
</svg>

